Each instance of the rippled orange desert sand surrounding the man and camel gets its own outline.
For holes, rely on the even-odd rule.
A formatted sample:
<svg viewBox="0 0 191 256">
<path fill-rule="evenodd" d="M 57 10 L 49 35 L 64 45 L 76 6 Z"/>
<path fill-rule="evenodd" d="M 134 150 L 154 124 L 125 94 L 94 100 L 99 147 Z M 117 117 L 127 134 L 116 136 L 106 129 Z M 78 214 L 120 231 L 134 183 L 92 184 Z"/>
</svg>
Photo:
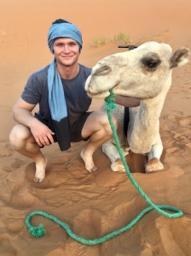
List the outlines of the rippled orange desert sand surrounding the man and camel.
<svg viewBox="0 0 191 256">
<path fill-rule="evenodd" d="M 0 1 L 0 255 L 1 256 L 189 256 L 191 255 L 191 63 L 175 68 L 171 89 L 160 116 L 165 170 L 142 173 L 144 161 L 128 158 L 133 177 L 156 205 L 172 205 L 183 211 L 167 218 L 149 211 L 136 225 L 99 245 L 73 240 L 64 229 L 40 216 L 43 238 L 26 229 L 26 216 L 46 211 L 69 224 L 85 239 L 95 239 L 124 227 L 148 203 L 125 173 L 113 173 L 110 161 L 98 149 L 98 170 L 88 173 L 79 153 L 86 142 L 73 143 L 61 152 L 58 145 L 43 148 L 49 159 L 42 183 L 33 182 L 34 163 L 14 152 L 9 132 L 15 122 L 12 108 L 29 75 L 51 62 L 47 33 L 58 18 L 71 21 L 84 39 L 79 62 L 93 67 L 102 57 L 124 49 L 117 43 L 99 48 L 92 40 L 124 32 L 132 44 L 164 42 L 173 51 L 191 49 L 189 0 L 1 0 Z M 98 110 L 93 100 L 90 110 Z M 135 160 L 136 159 L 136 160 Z"/>
</svg>

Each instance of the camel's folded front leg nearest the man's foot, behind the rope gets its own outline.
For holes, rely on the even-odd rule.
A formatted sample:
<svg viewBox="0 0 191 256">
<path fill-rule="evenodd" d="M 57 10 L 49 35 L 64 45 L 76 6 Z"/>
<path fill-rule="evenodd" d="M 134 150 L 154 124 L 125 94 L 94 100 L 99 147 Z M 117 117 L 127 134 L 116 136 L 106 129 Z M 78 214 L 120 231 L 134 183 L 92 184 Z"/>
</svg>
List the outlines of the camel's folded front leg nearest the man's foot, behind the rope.
<svg viewBox="0 0 191 256">
<path fill-rule="evenodd" d="M 129 147 L 122 147 L 122 151 L 124 153 L 124 156 L 129 154 Z M 110 161 L 112 162 L 111 164 L 111 169 L 113 171 L 125 171 L 124 170 L 124 164 L 122 163 L 120 156 L 119 156 L 119 152 L 117 147 L 113 144 L 113 142 L 111 140 L 107 140 L 107 142 L 105 142 L 102 145 L 102 152 L 104 152 L 107 157 L 110 159 Z"/>
</svg>

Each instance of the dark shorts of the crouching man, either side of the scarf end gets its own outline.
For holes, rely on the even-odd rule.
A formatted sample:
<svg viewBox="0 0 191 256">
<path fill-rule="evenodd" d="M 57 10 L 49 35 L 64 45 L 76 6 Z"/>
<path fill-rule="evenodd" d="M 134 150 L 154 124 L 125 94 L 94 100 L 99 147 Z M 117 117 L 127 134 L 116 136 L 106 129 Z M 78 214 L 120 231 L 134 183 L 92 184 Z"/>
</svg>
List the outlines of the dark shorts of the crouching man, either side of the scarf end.
<svg viewBox="0 0 191 256">
<path fill-rule="evenodd" d="M 84 141 L 87 141 L 90 139 L 90 137 L 88 138 L 83 138 L 82 137 L 82 129 L 84 127 L 84 123 L 86 122 L 88 116 L 90 116 L 92 112 L 85 112 L 84 114 L 82 114 L 78 120 L 76 122 L 74 122 L 72 124 L 72 127 L 71 127 L 71 142 L 78 142 L 78 141 L 81 141 L 81 140 L 84 140 Z M 48 128 L 53 132 L 55 133 L 55 129 L 53 127 L 53 124 L 52 122 L 49 122 L 47 120 L 44 120 L 42 118 L 40 118 L 36 113 L 35 113 L 35 117 L 40 121 L 40 122 L 43 122 L 43 124 L 45 124 L 46 126 L 48 126 Z M 56 140 L 56 136 L 53 135 L 53 139 L 55 142 L 57 142 Z"/>
</svg>

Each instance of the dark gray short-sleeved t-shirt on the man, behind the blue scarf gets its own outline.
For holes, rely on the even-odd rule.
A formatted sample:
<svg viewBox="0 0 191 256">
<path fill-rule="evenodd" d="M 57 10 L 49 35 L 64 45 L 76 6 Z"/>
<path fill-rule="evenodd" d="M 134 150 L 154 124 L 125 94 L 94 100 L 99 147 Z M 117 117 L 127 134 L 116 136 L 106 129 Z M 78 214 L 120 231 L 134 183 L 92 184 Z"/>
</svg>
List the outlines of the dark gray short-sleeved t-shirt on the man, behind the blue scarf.
<svg viewBox="0 0 191 256">
<path fill-rule="evenodd" d="M 21 94 L 21 98 L 29 104 L 39 104 L 36 116 L 49 122 L 51 119 L 49 110 L 48 76 L 49 66 L 32 74 Z M 79 72 L 72 80 L 61 79 L 67 102 L 67 115 L 70 125 L 86 112 L 91 104 L 91 98 L 84 90 L 85 81 L 91 73 L 91 68 L 79 64 Z"/>
</svg>

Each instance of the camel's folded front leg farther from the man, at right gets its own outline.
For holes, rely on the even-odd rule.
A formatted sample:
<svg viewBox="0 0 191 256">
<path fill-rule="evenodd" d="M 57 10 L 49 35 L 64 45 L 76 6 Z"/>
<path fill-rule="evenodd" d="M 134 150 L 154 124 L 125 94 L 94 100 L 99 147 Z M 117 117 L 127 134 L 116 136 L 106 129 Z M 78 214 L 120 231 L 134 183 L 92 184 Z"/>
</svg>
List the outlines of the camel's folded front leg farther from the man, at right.
<svg viewBox="0 0 191 256">
<path fill-rule="evenodd" d="M 150 152 L 148 152 L 148 164 L 145 165 L 145 171 L 146 173 L 155 171 L 155 170 L 163 170 L 164 166 L 159 161 L 159 158 L 161 157 L 163 152 L 163 145 L 162 141 L 159 138 L 159 142 L 155 143 L 152 146 L 152 149 Z"/>
</svg>

